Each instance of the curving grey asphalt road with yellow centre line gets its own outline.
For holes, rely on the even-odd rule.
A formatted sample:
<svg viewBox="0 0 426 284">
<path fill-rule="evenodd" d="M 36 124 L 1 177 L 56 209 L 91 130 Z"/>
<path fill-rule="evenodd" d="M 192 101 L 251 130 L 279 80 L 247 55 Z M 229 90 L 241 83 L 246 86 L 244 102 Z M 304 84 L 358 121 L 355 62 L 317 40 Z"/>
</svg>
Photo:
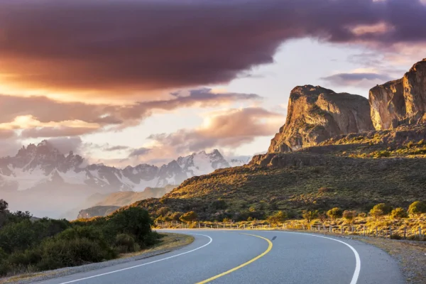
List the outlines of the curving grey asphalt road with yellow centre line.
<svg viewBox="0 0 426 284">
<path fill-rule="evenodd" d="M 287 231 L 173 231 L 193 234 L 195 241 L 160 256 L 39 283 L 405 283 L 391 256 L 359 241 Z"/>
</svg>

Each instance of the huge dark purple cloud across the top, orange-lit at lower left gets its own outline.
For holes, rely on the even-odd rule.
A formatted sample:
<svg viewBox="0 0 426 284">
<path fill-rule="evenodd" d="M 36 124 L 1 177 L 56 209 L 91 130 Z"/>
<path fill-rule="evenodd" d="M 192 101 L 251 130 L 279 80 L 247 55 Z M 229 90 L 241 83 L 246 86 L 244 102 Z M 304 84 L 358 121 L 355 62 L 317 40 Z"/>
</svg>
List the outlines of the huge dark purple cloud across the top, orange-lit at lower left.
<svg viewBox="0 0 426 284">
<path fill-rule="evenodd" d="M 350 11 L 350 12 L 349 12 Z M 92 96 L 222 84 L 285 40 L 425 42 L 419 0 L 4 0 L 1 81 Z"/>
</svg>

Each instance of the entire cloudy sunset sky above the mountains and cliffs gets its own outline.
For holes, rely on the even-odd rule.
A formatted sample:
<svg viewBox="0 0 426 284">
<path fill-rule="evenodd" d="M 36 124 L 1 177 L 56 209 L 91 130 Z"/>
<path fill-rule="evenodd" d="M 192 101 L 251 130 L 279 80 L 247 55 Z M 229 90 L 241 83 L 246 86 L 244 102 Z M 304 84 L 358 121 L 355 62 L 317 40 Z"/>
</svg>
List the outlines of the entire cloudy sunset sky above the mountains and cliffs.
<svg viewBox="0 0 426 284">
<path fill-rule="evenodd" d="M 426 58 L 423 0 L 0 0 L 0 156 L 263 153 L 297 85 L 360 94 Z"/>
</svg>

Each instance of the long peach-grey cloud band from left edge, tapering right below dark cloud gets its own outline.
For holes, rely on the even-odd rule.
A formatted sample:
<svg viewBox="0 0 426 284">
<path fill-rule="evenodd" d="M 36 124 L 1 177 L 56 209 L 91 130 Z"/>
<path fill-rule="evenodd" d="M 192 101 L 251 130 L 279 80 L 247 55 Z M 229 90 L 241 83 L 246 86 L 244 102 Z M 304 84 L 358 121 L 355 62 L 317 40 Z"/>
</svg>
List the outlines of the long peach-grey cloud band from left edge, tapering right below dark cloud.
<svg viewBox="0 0 426 284">
<path fill-rule="evenodd" d="M 94 131 L 120 130 L 134 126 L 155 111 L 183 107 L 217 107 L 261 99 L 257 94 L 200 88 L 173 92 L 170 99 L 126 105 L 58 102 L 47 97 L 14 97 L 0 94 L 0 129 L 23 129 L 23 138 L 78 136 Z"/>
</svg>

